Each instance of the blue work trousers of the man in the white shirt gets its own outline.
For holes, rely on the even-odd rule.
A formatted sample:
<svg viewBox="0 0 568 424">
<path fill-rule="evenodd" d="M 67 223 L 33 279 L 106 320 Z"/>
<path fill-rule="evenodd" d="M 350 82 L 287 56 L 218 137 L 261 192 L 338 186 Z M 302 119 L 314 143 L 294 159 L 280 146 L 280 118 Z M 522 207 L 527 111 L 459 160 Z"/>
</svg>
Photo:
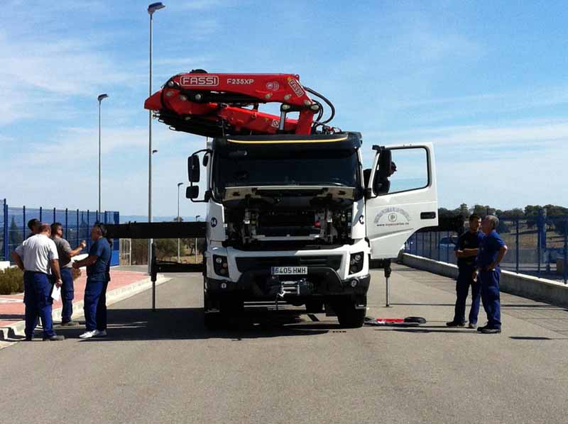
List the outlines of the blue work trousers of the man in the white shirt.
<svg viewBox="0 0 568 424">
<path fill-rule="evenodd" d="M 26 305 L 26 337 L 33 336 L 38 316 L 43 325 L 43 337 L 55 335 L 51 319 L 51 279 L 48 274 L 26 271 L 23 273 L 23 303 Z"/>
</svg>

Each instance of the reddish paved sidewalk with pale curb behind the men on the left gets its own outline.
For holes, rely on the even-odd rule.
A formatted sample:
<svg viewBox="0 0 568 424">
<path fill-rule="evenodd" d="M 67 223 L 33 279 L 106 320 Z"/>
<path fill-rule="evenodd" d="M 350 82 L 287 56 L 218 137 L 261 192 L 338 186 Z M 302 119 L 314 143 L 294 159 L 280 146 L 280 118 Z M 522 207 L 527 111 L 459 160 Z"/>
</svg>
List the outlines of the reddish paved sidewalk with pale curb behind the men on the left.
<svg viewBox="0 0 568 424">
<path fill-rule="evenodd" d="M 125 271 L 121 269 L 111 269 L 111 281 L 107 289 L 107 305 L 116 301 L 126 299 L 142 290 L 151 287 L 151 281 L 146 272 Z M 158 276 L 156 284 L 167 281 L 163 276 Z M 75 280 L 75 299 L 73 299 L 73 318 L 83 316 L 83 296 L 84 286 L 87 276 L 82 269 L 82 275 Z M 61 320 L 61 301 L 53 302 L 53 320 L 57 324 Z M 23 304 L 23 293 L 13 295 L 0 295 L 0 340 L 21 334 L 25 326 L 25 309 Z M 36 328 L 38 331 L 38 328 Z"/>
</svg>

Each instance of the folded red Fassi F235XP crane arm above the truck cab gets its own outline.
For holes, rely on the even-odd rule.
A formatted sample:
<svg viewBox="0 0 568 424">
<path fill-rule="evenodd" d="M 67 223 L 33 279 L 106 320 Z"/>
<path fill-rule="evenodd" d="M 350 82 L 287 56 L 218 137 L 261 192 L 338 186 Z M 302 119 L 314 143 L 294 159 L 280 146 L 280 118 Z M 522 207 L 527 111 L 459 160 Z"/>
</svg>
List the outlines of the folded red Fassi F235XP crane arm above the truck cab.
<svg viewBox="0 0 568 424">
<path fill-rule="evenodd" d="M 273 102 L 281 104 L 280 116 L 258 111 L 258 104 Z M 310 134 L 321 104 L 310 99 L 295 74 L 209 74 L 198 70 L 170 78 L 163 89 L 146 99 L 144 107 L 173 129 L 215 136 Z M 300 113 L 297 120 L 285 119 L 290 111 Z"/>
</svg>

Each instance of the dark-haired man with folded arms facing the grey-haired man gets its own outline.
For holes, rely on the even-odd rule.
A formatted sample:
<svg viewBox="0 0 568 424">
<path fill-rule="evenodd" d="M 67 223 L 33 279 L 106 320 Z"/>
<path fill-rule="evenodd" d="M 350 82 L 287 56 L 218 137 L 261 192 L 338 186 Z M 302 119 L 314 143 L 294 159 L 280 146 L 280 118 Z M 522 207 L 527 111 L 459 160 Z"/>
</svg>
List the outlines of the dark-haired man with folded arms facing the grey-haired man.
<svg viewBox="0 0 568 424">
<path fill-rule="evenodd" d="M 479 231 L 481 218 L 475 213 L 469 217 L 469 230 L 459 236 L 454 248 L 457 257 L 458 276 L 456 281 L 456 307 L 454 319 L 446 323 L 448 327 L 463 327 L 466 325 L 466 299 L 471 286 L 471 309 L 469 310 L 469 328 L 477 327 L 479 313 L 479 298 L 481 285 L 474 281 L 473 274 L 477 269 L 477 254 L 479 242 L 484 237 Z"/>
</svg>

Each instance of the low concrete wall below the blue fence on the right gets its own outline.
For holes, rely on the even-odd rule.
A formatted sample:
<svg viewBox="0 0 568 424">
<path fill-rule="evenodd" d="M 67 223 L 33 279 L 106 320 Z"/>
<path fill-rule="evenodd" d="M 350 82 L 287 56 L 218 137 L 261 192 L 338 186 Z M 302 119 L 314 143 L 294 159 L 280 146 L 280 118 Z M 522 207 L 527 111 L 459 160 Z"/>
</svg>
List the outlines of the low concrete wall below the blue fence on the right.
<svg viewBox="0 0 568 424">
<path fill-rule="evenodd" d="M 438 262 L 409 253 L 403 254 L 403 264 L 444 277 L 457 278 L 457 266 L 454 264 Z M 515 296 L 552 303 L 553 305 L 568 306 L 568 285 L 559 281 L 517 274 L 502 269 L 500 289 Z"/>
</svg>

